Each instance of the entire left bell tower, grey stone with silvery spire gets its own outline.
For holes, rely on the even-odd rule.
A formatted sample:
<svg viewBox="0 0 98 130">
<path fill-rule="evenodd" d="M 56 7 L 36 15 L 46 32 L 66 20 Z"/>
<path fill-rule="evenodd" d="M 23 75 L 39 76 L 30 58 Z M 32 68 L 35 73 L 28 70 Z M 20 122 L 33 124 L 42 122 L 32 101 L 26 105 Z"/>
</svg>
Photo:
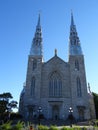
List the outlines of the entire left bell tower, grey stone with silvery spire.
<svg viewBox="0 0 98 130">
<path fill-rule="evenodd" d="M 40 104 L 41 72 L 43 64 L 42 29 L 40 14 L 32 40 L 26 75 L 26 85 L 20 96 L 20 113 L 24 119 L 31 120 L 34 114 L 35 104 Z"/>
</svg>

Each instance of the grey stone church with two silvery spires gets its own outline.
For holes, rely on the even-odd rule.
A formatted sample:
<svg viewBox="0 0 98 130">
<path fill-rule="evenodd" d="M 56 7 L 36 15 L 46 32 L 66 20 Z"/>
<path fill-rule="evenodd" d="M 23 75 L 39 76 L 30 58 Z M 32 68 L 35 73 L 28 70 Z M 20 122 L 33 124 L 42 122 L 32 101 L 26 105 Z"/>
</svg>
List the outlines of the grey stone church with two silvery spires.
<svg viewBox="0 0 98 130">
<path fill-rule="evenodd" d="M 20 94 L 19 113 L 25 120 L 38 117 L 66 120 L 71 113 L 77 120 L 95 118 L 92 93 L 87 91 L 84 55 L 71 13 L 68 62 L 57 55 L 43 59 L 40 15 L 32 40 L 26 83 Z"/>
</svg>

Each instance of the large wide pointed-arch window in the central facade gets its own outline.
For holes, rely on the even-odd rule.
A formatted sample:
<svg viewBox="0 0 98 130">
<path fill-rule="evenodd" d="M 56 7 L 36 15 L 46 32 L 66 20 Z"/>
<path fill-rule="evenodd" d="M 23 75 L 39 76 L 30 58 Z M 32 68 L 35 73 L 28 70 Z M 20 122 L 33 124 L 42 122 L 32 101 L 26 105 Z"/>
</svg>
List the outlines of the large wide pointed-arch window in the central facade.
<svg viewBox="0 0 98 130">
<path fill-rule="evenodd" d="M 59 74 L 55 71 L 51 74 L 49 80 L 49 97 L 62 96 L 62 81 Z"/>
</svg>

